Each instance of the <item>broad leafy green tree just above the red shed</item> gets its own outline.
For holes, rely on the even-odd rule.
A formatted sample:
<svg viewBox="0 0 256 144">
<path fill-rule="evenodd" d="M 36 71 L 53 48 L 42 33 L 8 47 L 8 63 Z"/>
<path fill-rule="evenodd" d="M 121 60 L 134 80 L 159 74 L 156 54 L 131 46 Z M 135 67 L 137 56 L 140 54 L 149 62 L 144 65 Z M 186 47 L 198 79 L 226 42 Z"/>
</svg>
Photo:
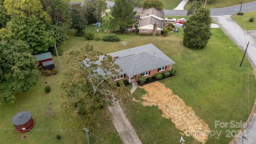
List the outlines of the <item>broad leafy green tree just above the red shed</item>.
<svg viewBox="0 0 256 144">
<path fill-rule="evenodd" d="M 6 29 L 29 44 L 29 51 L 33 54 L 42 53 L 49 50 L 55 44 L 53 31 L 47 29 L 47 25 L 36 18 L 31 17 L 21 18 L 13 16 L 11 21 L 7 22 Z"/>
</svg>

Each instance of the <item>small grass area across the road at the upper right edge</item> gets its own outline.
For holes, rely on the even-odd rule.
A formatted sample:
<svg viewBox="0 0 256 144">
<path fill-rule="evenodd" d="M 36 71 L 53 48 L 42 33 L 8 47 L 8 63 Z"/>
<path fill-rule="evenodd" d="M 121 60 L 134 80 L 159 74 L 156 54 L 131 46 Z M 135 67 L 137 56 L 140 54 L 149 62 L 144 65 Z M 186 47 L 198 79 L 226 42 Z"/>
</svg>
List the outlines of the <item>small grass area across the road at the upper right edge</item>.
<svg viewBox="0 0 256 144">
<path fill-rule="evenodd" d="M 232 15 L 232 18 L 245 30 L 256 30 L 256 21 L 249 21 L 252 16 L 256 18 L 256 12 L 248 12 L 244 13 L 244 15 Z"/>
</svg>

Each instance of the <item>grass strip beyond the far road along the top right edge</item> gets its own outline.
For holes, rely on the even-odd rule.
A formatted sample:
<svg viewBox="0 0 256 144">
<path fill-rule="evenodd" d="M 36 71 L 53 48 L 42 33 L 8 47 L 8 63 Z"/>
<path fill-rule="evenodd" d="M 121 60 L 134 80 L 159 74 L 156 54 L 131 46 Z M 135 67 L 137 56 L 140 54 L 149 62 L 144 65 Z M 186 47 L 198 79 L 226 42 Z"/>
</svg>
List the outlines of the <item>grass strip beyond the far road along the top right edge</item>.
<svg viewBox="0 0 256 144">
<path fill-rule="evenodd" d="M 190 5 L 192 4 L 193 0 L 190 0 L 186 6 L 184 7 L 185 10 L 188 10 Z M 232 5 L 237 5 L 239 3 L 241 3 L 241 0 L 215 0 L 214 3 L 207 3 L 206 7 L 209 9 L 214 9 L 214 8 L 220 8 L 220 7 L 226 7 L 226 6 L 232 6 Z M 248 2 L 253 2 L 253 0 L 244 0 L 244 3 L 248 3 Z M 203 0 L 202 2 L 202 6 L 204 6 L 205 0 Z"/>
</svg>

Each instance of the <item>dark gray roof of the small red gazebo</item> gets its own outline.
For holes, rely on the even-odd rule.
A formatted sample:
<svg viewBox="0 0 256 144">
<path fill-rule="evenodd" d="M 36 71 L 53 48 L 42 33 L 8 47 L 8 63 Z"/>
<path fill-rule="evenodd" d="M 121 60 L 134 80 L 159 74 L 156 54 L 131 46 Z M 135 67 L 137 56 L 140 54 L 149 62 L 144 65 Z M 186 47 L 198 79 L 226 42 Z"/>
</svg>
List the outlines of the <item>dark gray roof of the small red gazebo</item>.
<svg viewBox="0 0 256 144">
<path fill-rule="evenodd" d="M 31 114 L 29 113 L 29 111 L 21 111 L 20 113 L 12 117 L 12 124 L 14 125 L 26 124 L 29 121 L 29 119 L 31 119 Z"/>
</svg>

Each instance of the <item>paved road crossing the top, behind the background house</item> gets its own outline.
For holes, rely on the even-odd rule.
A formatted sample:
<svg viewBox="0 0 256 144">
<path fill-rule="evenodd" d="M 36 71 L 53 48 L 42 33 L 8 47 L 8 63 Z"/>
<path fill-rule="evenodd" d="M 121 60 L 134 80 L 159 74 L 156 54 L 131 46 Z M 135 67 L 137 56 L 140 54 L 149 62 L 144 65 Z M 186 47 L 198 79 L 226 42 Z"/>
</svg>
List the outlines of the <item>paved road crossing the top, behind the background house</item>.
<svg viewBox="0 0 256 144">
<path fill-rule="evenodd" d="M 227 0 L 226 0 L 227 1 Z M 113 6 L 115 3 L 107 1 L 108 7 Z M 219 9 L 211 9 L 211 15 L 231 15 L 236 14 L 240 10 L 239 4 L 234 6 L 228 6 L 223 7 Z M 249 9 L 247 9 L 249 7 Z M 252 12 L 256 11 L 256 1 L 250 2 L 250 3 L 244 3 L 242 6 L 243 12 Z M 140 12 L 139 9 L 137 9 L 137 12 Z M 186 10 L 164 10 L 165 15 L 173 15 L 173 16 L 185 16 L 187 15 Z"/>
</svg>

